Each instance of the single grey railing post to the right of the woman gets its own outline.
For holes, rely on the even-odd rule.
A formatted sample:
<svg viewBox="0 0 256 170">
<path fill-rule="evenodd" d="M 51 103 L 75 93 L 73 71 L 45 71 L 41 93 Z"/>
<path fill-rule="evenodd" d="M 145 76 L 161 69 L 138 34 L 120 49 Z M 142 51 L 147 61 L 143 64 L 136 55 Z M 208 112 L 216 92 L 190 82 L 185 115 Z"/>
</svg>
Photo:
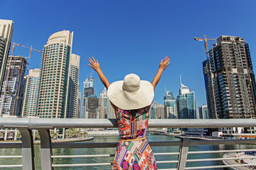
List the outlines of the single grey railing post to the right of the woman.
<svg viewBox="0 0 256 170">
<path fill-rule="evenodd" d="M 188 137 L 181 137 L 181 147 L 179 149 L 179 156 L 178 156 L 178 170 L 184 170 L 186 168 L 186 159 L 188 157 L 188 146 L 189 146 L 189 139 Z"/>
</svg>

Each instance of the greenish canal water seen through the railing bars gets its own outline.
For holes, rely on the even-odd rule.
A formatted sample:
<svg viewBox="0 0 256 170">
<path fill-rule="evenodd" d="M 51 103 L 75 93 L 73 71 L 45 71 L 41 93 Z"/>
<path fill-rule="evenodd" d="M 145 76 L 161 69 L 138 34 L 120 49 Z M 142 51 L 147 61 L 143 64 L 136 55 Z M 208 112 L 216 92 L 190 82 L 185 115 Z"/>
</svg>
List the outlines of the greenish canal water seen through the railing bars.
<svg viewBox="0 0 256 170">
<path fill-rule="evenodd" d="M 173 136 L 166 135 L 147 135 L 149 142 L 153 141 L 177 141 L 179 140 Z M 118 142 L 118 136 L 112 137 L 95 137 L 94 140 L 87 142 Z M 35 146 L 36 152 L 36 170 L 41 169 L 41 159 L 40 159 L 40 145 Z M 201 145 L 189 147 L 189 151 L 209 151 L 209 150 L 223 150 L 223 149 L 252 149 L 256 148 L 256 145 Z M 53 155 L 78 155 L 78 154 L 114 154 L 116 148 L 78 148 L 78 149 L 53 149 Z M 178 147 L 152 147 L 155 153 L 159 152 L 178 152 Z M 0 156 L 3 155 L 21 155 L 21 149 L 0 149 Z M 189 154 L 188 159 L 207 159 L 207 158 L 219 158 L 223 154 Z M 171 156 L 155 156 L 156 161 L 164 160 L 177 160 L 177 155 Z M 97 158 L 56 158 L 53 159 L 53 164 L 86 164 L 86 163 L 106 163 L 112 162 L 114 157 L 97 157 Z M 22 164 L 21 159 L 0 159 L 0 164 Z M 211 165 L 221 165 L 219 162 L 187 162 L 186 166 L 211 166 Z M 176 164 L 158 164 L 159 169 L 175 168 Z M 1 169 L 1 168 L 0 168 Z M 3 168 L 5 170 L 17 170 L 18 168 Z M 21 168 L 20 168 L 21 169 Z M 89 167 L 56 167 L 55 170 L 64 170 L 64 169 L 92 169 L 92 170 L 102 170 L 102 169 L 111 169 L 111 166 L 89 166 Z"/>
</svg>

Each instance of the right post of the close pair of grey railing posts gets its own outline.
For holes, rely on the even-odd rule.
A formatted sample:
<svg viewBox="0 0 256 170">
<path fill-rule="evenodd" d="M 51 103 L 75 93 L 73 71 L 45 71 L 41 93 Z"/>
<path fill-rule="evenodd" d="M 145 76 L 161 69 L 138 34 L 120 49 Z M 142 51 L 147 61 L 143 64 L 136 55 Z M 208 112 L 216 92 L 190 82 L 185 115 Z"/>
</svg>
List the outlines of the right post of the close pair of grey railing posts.
<svg viewBox="0 0 256 170">
<path fill-rule="evenodd" d="M 43 170 L 53 170 L 52 164 L 52 148 L 50 140 L 50 130 L 48 129 L 38 129 L 41 142 L 41 169 Z"/>
</svg>

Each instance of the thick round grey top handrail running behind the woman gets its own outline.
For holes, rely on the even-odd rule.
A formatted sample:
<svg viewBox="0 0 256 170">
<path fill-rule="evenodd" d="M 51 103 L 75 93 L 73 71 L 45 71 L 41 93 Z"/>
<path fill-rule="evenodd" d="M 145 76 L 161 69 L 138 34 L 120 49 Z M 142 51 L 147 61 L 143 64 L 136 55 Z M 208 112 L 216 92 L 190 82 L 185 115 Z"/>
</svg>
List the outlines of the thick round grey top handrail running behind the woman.
<svg viewBox="0 0 256 170">
<path fill-rule="evenodd" d="M 0 118 L 1 128 L 117 128 L 116 119 Z M 149 119 L 149 128 L 256 127 L 256 119 Z"/>
</svg>

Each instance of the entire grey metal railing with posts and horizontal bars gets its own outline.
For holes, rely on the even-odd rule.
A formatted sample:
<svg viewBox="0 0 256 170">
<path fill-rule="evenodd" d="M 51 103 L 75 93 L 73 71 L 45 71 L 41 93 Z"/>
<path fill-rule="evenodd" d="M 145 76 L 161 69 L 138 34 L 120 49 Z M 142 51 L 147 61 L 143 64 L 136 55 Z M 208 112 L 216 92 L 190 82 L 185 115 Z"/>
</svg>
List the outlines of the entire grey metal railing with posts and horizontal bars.
<svg viewBox="0 0 256 170">
<path fill-rule="evenodd" d="M 149 128 L 233 128 L 233 127 L 256 127 L 253 119 L 218 119 L 218 120 L 149 120 Z M 111 166 L 112 162 L 95 164 L 53 164 L 53 159 L 59 158 L 90 158 L 90 157 L 114 157 L 110 154 L 85 154 L 85 155 L 53 155 L 55 148 L 102 148 L 117 147 L 117 142 L 79 142 L 79 143 L 52 143 L 50 129 L 53 128 L 117 128 L 116 120 L 108 119 L 50 119 L 50 118 L 0 118 L 0 128 L 18 128 L 21 132 L 22 142 L 0 142 L 0 148 L 21 148 L 22 155 L 1 156 L 0 159 L 22 158 L 22 164 L 0 165 L 0 168 L 22 167 L 24 170 L 34 170 L 35 152 L 33 145 L 32 130 L 38 130 L 41 140 L 41 169 L 52 170 L 54 167 L 83 166 Z M 256 140 L 190 140 L 181 137 L 180 141 L 149 142 L 151 147 L 178 146 L 178 152 L 161 152 L 154 155 L 176 155 L 177 159 L 156 161 L 157 164 L 176 164 L 172 169 L 221 169 L 227 167 L 249 166 L 255 164 L 228 164 L 228 160 L 235 157 L 220 157 L 210 159 L 188 159 L 191 154 L 215 154 L 230 152 L 250 152 L 256 149 L 233 149 L 211 151 L 189 151 L 189 147 L 196 145 L 237 145 L 255 144 Z M 248 159 L 251 159 L 249 157 Z M 157 160 L 157 159 L 156 159 Z M 223 161 L 223 165 L 215 166 L 186 166 L 187 162 L 217 162 Z M 171 168 L 170 168 L 171 169 Z M 167 170 L 167 169 L 166 169 Z"/>
</svg>

